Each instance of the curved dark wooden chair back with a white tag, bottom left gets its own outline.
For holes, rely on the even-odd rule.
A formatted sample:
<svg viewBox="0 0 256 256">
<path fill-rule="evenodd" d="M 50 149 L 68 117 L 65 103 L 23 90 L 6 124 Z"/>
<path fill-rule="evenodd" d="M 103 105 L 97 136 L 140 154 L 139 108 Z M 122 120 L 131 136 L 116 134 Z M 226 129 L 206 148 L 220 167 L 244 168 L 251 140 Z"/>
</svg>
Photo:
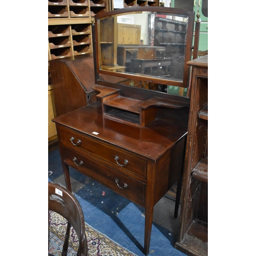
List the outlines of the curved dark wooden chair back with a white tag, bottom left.
<svg viewBox="0 0 256 256">
<path fill-rule="evenodd" d="M 81 205 L 75 196 L 65 187 L 48 182 L 48 209 L 57 212 L 67 221 L 66 239 L 63 243 L 62 256 L 67 255 L 70 225 L 77 233 L 79 248 L 77 256 L 88 256 L 86 227 Z M 48 255 L 51 255 L 50 253 Z"/>
</svg>

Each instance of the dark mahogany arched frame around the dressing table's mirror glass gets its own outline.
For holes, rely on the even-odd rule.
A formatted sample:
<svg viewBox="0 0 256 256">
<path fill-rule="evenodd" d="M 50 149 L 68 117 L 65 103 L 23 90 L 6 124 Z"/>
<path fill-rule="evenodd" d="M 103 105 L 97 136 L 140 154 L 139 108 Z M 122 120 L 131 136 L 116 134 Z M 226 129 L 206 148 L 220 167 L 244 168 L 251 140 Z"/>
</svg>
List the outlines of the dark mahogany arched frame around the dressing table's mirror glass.
<svg viewBox="0 0 256 256">
<path fill-rule="evenodd" d="M 106 18 L 112 15 L 125 15 L 125 14 L 132 14 L 132 13 L 140 13 L 140 12 L 158 12 L 158 13 L 166 13 L 172 14 L 176 16 L 186 15 L 188 17 L 187 23 L 187 37 L 186 37 L 186 47 L 185 47 L 185 56 L 184 56 L 184 73 L 183 73 L 183 81 L 175 81 L 169 80 L 165 78 L 159 78 L 157 76 L 147 76 L 147 75 L 139 75 L 139 74 L 126 74 L 126 73 L 119 73 L 113 72 L 108 70 L 100 69 L 100 42 L 99 42 L 99 19 Z M 177 9 L 177 8 L 168 8 L 168 7 L 156 7 L 156 6 L 138 6 L 138 7 L 129 7 L 129 8 L 122 8 L 116 9 L 113 11 L 107 11 L 100 14 L 95 15 L 95 48 L 96 54 L 96 77 L 99 77 L 99 74 L 109 75 L 109 76 L 117 76 L 123 77 L 127 79 L 136 79 L 146 82 L 155 82 L 159 84 L 165 84 L 167 86 L 178 86 L 187 88 L 188 81 L 189 81 L 189 66 L 187 65 L 187 61 L 191 60 L 192 56 L 192 49 L 193 49 L 193 35 L 194 35 L 194 24 L 195 24 L 195 12 L 188 11 L 184 9 Z M 97 80 L 97 79 L 96 79 Z"/>
</svg>

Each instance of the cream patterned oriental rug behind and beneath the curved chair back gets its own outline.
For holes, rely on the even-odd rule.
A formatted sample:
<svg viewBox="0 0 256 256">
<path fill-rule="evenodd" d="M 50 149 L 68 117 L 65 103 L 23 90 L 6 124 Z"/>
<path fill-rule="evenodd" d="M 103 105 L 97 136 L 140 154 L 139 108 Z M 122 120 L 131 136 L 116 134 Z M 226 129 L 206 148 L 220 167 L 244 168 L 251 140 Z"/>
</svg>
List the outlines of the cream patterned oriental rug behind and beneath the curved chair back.
<svg viewBox="0 0 256 256">
<path fill-rule="evenodd" d="M 62 245 L 67 229 L 67 220 L 50 211 L 49 217 L 50 245 L 49 252 L 53 255 L 61 256 Z M 88 243 L 88 256 L 137 256 L 133 252 L 128 251 L 116 242 L 112 241 L 104 234 L 95 230 L 86 223 L 86 236 Z M 78 250 L 78 239 L 73 227 L 70 229 L 68 256 L 76 256 Z"/>
</svg>

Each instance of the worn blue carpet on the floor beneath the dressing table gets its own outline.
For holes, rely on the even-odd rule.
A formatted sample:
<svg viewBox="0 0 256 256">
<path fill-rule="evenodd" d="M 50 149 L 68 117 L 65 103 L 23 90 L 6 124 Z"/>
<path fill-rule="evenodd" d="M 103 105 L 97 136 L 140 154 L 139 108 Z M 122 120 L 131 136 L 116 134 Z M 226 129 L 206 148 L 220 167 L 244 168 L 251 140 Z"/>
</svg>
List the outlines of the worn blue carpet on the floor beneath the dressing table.
<svg viewBox="0 0 256 256">
<path fill-rule="evenodd" d="M 58 183 L 63 175 L 58 148 L 49 152 L 48 166 L 48 181 Z M 70 176 L 77 181 L 78 188 L 74 195 L 81 204 L 86 223 L 138 256 L 143 256 L 144 208 L 73 168 L 70 168 Z M 186 255 L 174 248 L 176 239 L 177 234 L 153 223 L 148 255 Z"/>
</svg>

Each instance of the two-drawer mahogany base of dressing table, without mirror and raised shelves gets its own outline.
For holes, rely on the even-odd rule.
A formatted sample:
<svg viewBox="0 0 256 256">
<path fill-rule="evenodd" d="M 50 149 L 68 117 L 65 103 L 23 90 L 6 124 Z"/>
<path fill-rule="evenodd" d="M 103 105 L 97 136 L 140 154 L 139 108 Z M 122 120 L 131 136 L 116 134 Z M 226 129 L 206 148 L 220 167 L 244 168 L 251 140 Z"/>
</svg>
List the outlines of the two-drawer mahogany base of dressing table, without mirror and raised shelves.
<svg viewBox="0 0 256 256">
<path fill-rule="evenodd" d="M 154 205 L 181 178 L 186 127 L 159 118 L 143 127 L 104 119 L 99 102 L 53 121 L 68 189 L 71 166 L 144 207 L 148 254 Z"/>
</svg>

